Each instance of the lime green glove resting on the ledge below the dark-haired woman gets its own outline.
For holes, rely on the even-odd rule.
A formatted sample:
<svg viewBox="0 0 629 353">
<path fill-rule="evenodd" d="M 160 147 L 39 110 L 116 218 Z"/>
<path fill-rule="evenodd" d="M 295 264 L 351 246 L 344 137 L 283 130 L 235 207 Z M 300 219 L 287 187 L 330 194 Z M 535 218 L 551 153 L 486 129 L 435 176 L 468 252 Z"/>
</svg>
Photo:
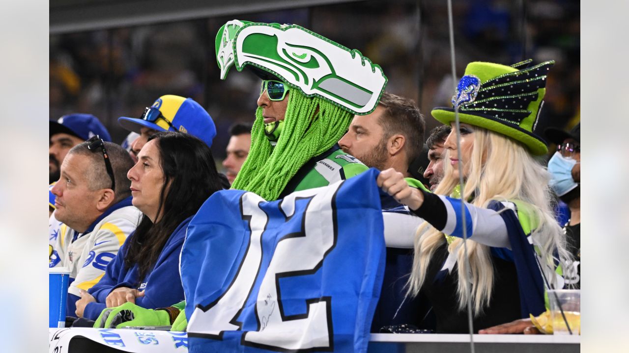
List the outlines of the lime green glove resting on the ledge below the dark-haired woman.
<svg viewBox="0 0 629 353">
<path fill-rule="evenodd" d="M 181 316 L 181 314 L 179 315 Z M 177 317 L 179 320 L 179 317 Z M 184 315 L 184 322 L 186 315 Z M 126 326 L 164 326 L 170 325 L 170 315 L 165 310 L 153 310 L 138 307 L 126 302 L 120 307 L 106 308 L 94 323 L 95 329 L 120 329 Z M 186 322 L 187 325 L 187 322 Z M 185 329 L 185 327 L 184 327 Z"/>
</svg>

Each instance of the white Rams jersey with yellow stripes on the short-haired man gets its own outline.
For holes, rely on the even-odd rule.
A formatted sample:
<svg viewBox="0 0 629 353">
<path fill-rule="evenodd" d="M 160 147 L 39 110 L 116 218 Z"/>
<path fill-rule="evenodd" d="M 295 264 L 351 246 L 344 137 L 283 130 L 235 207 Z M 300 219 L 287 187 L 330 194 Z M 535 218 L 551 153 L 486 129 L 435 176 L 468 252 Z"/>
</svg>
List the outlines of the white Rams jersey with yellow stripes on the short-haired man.
<svg viewBox="0 0 629 353">
<path fill-rule="evenodd" d="M 126 237 L 135 231 L 141 215 L 142 212 L 133 206 L 121 207 L 86 234 L 61 224 L 55 244 L 50 247 L 49 265 L 51 268 L 69 268 L 70 294 L 81 296 L 79 289 L 88 290 L 101 280 L 107 264 L 116 257 Z M 57 259 L 53 259 L 55 253 Z"/>
</svg>

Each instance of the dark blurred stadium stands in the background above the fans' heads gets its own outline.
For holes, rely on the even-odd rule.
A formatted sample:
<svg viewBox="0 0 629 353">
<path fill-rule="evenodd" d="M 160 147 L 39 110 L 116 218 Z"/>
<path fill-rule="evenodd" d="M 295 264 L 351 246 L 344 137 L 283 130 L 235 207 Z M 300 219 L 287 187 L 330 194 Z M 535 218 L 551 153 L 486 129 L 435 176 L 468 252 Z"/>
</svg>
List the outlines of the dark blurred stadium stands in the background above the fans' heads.
<svg viewBox="0 0 629 353">
<path fill-rule="evenodd" d="M 580 4 L 569 0 L 453 1 L 457 76 L 472 61 L 510 65 L 526 58 L 556 60 L 535 131 L 570 129 L 580 114 Z M 216 124 L 211 147 L 225 158 L 234 122 L 253 121 L 259 84 L 253 75 L 219 79 L 214 38 L 226 21 L 300 24 L 360 48 L 381 65 L 387 91 L 416 100 L 426 131 L 430 110 L 450 106 L 447 3 L 436 0 L 355 1 L 263 13 L 163 21 L 50 35 L 50 119 L 86 112 L 121 143 L 128 131 L 116 119 L 140 117 L 163 94 L 191 97 Z M 457 78 L 458 80 L 458 78 Z M 426 138 L 428 136 L 426 135 Z M 554 149 L 550 149 L 550 153 Z"/>
</svg>

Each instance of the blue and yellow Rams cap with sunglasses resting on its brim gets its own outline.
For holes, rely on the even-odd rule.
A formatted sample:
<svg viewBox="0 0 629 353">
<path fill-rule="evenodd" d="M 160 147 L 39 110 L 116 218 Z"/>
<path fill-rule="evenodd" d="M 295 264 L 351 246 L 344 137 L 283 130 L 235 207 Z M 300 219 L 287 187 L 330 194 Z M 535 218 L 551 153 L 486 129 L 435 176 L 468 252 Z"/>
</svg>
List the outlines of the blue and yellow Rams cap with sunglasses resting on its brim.
<svg viewBox="0 0 629 353">
<path fill-rule="evenodd" d="M 179 95 L 162 95 L 152 106 L 147 107 L 140 118 L 119 117 L 118 123 L 128 131 L 140 133 L 140 129 L 157 131 L 181 131 L 189 133 L 212 146 L 216 126 L 212 117 L 192 98 Z"/>
</svg>

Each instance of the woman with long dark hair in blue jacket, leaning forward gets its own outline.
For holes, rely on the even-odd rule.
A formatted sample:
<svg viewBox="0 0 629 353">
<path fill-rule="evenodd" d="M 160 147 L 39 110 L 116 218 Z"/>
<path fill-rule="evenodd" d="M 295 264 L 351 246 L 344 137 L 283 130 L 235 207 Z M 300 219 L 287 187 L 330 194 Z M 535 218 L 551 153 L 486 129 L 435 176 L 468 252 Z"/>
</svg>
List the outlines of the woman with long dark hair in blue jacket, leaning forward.
<svg viewBox="0 0 629 353">
<path fill-rule="evenodd" d="M 184 300 L 179 253 L 187 225 L 203 202 L 222 189 L 208 145 L 189 134 L 157 133 L 138 159 L 127 176 L 142 220 L 99 283 L 77 301 L 77 313 L 82 309 L 90 320 L 126 301 L 160 308 Z"/>
</svg>

